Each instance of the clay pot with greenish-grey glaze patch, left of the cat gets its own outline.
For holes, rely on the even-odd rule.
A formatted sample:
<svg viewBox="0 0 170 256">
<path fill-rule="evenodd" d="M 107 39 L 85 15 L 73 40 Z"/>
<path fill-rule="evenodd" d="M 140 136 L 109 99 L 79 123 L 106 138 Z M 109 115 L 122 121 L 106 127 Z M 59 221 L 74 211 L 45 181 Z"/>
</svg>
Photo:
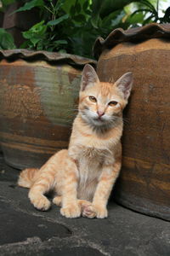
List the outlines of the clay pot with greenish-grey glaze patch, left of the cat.
<svg viewBox="0 0 170 256">
<path fill-rule="evenodd" d="M 42 166 L 67 148 L 86 63 L 95 66 L 76 55 L 0 51 L 0 141 L 9 165 Z"/>
</svg>

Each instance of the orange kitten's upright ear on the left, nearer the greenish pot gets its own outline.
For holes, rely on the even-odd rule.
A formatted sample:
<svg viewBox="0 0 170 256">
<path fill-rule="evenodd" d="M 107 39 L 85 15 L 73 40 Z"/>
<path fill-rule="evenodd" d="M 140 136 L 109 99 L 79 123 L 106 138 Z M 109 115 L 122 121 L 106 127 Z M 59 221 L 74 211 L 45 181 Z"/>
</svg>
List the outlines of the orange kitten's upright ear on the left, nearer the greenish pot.
<svg viewBox="0 0 170 256">
<path fill-rule="evenodd" d="M 81 90 L 85 90 L 88 86 L 93 86 L 95 83 L 99 82 L 97 73 L 89 64 L 86 64 L 82 70 L 82 81 L 81 81 Z"/>
</svg>

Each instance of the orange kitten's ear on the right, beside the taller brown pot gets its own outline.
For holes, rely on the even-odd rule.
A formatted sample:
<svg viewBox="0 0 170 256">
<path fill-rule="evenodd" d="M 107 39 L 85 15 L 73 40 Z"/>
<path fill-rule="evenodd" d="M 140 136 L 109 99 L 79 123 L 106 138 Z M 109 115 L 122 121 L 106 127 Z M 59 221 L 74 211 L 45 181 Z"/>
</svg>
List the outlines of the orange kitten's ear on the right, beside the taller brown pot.
<svg viewBox="0 0 170 256">
<path fill-rule="evenodd" d="M 115 85 L 122 91 L 125 100 L 127 100 L 133 86 L 133 73 L 127 72 L 123 74 L 122 77 L 116 81 Z"/>
</svg>

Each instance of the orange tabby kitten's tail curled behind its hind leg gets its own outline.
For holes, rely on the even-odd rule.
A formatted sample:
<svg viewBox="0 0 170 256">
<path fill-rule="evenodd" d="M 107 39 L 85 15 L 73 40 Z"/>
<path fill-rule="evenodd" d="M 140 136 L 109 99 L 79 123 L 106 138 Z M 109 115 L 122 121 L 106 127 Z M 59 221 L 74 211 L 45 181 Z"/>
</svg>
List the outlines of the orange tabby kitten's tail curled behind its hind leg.
<svg viewBox="0 0 170 256">
<path fill-rule="evenodd" d="M 18 180 L 18 185 L 24 188 L 31 188 L 31 185 L 36 181 L 37 174 L 40 169 L 27 168 L 20 172 L 20 177 Z"/>
</svg>

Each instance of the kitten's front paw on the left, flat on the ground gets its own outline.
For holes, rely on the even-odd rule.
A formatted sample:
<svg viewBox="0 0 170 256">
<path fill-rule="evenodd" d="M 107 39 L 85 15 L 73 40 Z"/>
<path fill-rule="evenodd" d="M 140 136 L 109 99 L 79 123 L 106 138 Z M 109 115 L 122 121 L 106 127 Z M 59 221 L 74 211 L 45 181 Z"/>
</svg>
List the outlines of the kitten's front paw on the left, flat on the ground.
<svg viewBox="0 0 170 256">
<path fill-rule="evenodd" d="M 81 215 L 81 209 L 77 204 L 74 204 L 67 207 L 62 207 L 60 209 L 60 213 L 66 218 L 78 218 Z"/>
</svg>

